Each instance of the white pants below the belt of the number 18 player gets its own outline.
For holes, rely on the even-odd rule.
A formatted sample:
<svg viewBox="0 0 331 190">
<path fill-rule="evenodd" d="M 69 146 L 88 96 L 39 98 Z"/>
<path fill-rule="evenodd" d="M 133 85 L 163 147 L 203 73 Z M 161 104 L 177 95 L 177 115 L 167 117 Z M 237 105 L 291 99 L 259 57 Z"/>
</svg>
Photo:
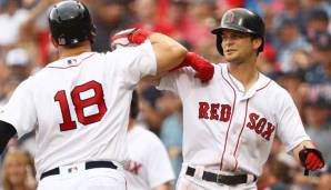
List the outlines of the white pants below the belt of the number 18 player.
<svg viewBox="0 0 331 190">
<path fill-rule="evenodd" d="M 39 181 L 38 190 L 127 190 L 122 171 L 96 168 L 69 174 L 54 174 Z"/>
</svg>

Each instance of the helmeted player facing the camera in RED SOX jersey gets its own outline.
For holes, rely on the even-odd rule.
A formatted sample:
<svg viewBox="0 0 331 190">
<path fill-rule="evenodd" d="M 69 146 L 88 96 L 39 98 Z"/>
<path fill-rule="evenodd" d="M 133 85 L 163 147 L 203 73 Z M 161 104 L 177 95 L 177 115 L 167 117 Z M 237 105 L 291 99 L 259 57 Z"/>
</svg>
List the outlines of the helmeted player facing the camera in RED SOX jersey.
<svg viewBox="0 0 331 190">
<path fill-rule="evenodd" d="M 309 170 L 324 166 L 307 136 L 290 94 L 257 69 L 264 23 L 254 12 L 228 10 L 212 31 L 227 62 L 202 83 L 191 68 L 164 76 L 159 89 L 183 103 L 183 164 L 177 188 L 255 189 L 278 136 Z"/>
</svg>

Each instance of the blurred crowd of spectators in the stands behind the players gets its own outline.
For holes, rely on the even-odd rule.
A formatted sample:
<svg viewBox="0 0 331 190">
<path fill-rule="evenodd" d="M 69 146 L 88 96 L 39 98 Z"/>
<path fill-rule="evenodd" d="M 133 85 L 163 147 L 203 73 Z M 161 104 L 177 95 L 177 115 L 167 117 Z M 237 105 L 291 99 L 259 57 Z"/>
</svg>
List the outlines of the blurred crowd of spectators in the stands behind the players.
<svg viewBox="0 0 331 190">
<path fill-rule="evenodd" d="M 0 0 L 0 107 L 22 80 L 57 59 L 49 41 L 47 12 L 58 1 Z M 222 57 L 210 31 L 222 13 L 233 7 L 258 12 L 267 26 L 264 51 L 258 62 L 260 71 L 291 93 L 308 134 L 328 164 L 304 177 L 300 163 L 275 139 L 258 181 L 259 189 L 331 189 L 330 0 L 82 1 L 97 27 L 96 51 L 109 51 L 109 38 L 116 32 L 139 27 L 171 36 L 214 63 L 222 62 Z M 141 99 L 139 121 L 160 137 L 178 174 L 182 162 L 181 101 L 148 83 L 140 83 L 137 90 Z M 30 133 L 8 144 L 0 164 L 4 190 L 36 189 L 33 137 Z"/>
</svg>

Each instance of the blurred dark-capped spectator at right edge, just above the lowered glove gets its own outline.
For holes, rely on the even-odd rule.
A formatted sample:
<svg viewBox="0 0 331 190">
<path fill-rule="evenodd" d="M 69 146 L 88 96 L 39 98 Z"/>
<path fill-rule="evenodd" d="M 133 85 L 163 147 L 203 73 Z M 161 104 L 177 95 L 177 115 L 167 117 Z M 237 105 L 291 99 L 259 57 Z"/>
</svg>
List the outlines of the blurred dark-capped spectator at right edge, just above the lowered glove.
<svg viewBox="0 0 331 190">
<path fill-rule="evenodd" d="M 324 94 L 309 97 L 305 100 L 305 131 L 323 153 L 327 163 L 331 162 L 331 126 L 328 124 L 330 110 L 331 100 Z"/>
</svg>

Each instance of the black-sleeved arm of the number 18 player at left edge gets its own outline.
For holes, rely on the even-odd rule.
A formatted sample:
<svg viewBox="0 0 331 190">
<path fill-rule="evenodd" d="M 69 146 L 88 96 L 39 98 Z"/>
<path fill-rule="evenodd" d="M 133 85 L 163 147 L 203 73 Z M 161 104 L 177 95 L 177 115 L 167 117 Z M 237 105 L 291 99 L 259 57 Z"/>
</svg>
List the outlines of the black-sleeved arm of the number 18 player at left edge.
<svg viewBox="0 0 331 190">
<path fill-rule="evenodd" d="M 14 127 L 0 120 L 0 154 L 7 147 L 8 141 L 17 133 Z"/>
</svg>

